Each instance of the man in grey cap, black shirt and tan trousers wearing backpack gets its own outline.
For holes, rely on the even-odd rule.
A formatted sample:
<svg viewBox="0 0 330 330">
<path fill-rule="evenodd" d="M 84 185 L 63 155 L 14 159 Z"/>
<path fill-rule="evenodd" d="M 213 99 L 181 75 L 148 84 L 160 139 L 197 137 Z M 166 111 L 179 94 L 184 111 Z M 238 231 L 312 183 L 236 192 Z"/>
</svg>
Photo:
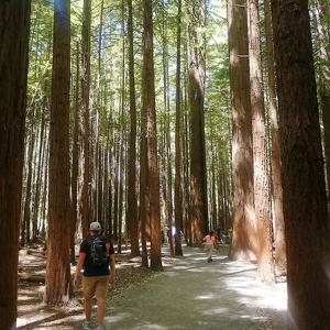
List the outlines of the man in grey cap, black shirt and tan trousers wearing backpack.
<svg viewBox="0 0 330 330">
<path fill-rule="evenodd" d="M 90 223 L 89 237 L 80 245 L 79 260 L 74 278 L 74 286 L 77 286 L 80 271 L 84 267 L 82 290 L 86 320 L 82 323 L 82 329 L 85 330 L 92 329 L 90 319 L 94 296 L 96 296 L 98 302 L 97 330 L 106 330 L 103 319 L 107 285 L 109 282 L 114 282 L 116 275 L 113 245 L 101 235 L 101 230 L 99 222 Z"/>
</svg>

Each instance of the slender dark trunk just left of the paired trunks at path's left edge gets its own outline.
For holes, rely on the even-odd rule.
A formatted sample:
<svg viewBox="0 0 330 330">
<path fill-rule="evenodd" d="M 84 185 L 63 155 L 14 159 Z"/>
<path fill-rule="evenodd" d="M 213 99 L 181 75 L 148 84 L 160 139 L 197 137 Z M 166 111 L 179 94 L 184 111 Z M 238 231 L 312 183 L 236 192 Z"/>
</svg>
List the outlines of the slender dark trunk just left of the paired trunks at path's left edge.
<svg viewBox="0 0 330 330">
<path fill-rule="evenodd" d="M 134 74 L 134 40 L 133 40 L 133 8 L 132 0 L 128 0 L 128 38 L 129 38 L 129 80 L 130 80 L 130 138 L 129 138 L 129 167 L 128 167 L 128 217 L 131 256 L 140 255 L 139 222 L 136 198 L 136 97 Z"/>
</svg>

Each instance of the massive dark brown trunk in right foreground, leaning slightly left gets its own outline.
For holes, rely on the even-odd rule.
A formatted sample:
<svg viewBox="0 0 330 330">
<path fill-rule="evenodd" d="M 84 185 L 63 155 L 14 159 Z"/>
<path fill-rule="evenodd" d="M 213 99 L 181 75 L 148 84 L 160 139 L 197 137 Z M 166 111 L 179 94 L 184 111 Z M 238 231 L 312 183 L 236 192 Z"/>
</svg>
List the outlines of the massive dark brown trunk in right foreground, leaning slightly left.
<svg viewBox="0 0 330 330">
<path fill-rule="evenodd" d="M 329 222 L 308 1 L 272 2 L 289 329 L 330 328 Z"/>
</svg>

